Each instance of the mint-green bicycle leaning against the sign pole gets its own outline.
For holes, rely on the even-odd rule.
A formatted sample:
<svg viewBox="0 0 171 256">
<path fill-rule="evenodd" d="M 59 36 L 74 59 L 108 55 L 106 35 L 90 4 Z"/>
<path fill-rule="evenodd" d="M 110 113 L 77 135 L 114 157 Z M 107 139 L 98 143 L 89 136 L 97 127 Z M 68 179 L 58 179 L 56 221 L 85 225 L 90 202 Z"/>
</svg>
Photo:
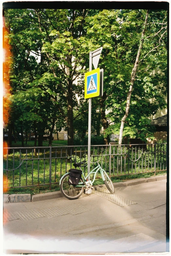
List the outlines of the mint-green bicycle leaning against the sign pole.
<svg viewBox="0 0 171 256">
<path fill-rule="evenodd" d="M 91 159 L 92 159 L 92 157 L 91 157 Z M 95 176 L 96 176 L 98 171 L 100 171 L 102 180 L 104 181 L 107 189 L 111 192 L 111 194 L 114 194 L 115 190 L 114 190 L 113 183 L 112 183 L 110 177 L 108 176 L 108 174 L 106 173 L 106 171 L 101 168 L 101 166 L 99 164 L 100 160 L 97 160 L 96 162 L 91 162 L 91 160 L 90 160 L 91 163 L 97 163 L 97 166 L 86 177 L 85 177 L 84 173 L 82 172 L 83 177 L 81 176 L 81 178 L 78 182 L 78 185 L 74 186 L 74 185 L 70 184 L 70 182 L 69 182 L 69 173 L 65 173 L 61 177 L 61 179 L 60 179 L 60 191 L 64 195 L 64 197 L 66 197 L 70 200 L 74 200 L 74 199 L 79 198 L 82 195 L 82 193 L 84 192 L 85 188 L 87 188 L 87 189 L 92 188 L 93 183 L 95 181 Z M 78 162 L 77 163 L 75 158 L 74 158 L 74 161 L 75 161 L 75 163 L 73 165 L 75 167 L 79 167 L 80 170 L 81 170 L 81 165 L 84 164 L 83 162 L 86 162 L 86 161 L 83 161 L 83 162 Z M 87 166 L 87 164 L 82 165 L 82 167 L 85 167 L 85 166 Z M 88 177 L 91 174 L 94 174 L 93 181 L 88 179 Z"/>
</svg>

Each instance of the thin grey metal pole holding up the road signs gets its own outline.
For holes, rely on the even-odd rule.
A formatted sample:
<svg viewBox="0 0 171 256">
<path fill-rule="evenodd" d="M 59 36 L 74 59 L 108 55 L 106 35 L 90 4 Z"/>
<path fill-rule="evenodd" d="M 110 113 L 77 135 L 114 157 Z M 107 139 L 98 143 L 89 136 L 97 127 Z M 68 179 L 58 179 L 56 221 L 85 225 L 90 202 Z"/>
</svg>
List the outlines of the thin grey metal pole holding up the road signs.
<svg viewBox="0 0 171 256">
<path fill-rule="evenodd" d="M 92 71 L 92 52 L 89 58 L 89 71 Z M 89 123 L 88 123 L 88 174 L 90 173 L 90 150 L 91 150 L 91 113 L 92 112 L 92 99 L 89 98 Z M 89 177 L 90 178 L 90 177 Z"/>
</svg>

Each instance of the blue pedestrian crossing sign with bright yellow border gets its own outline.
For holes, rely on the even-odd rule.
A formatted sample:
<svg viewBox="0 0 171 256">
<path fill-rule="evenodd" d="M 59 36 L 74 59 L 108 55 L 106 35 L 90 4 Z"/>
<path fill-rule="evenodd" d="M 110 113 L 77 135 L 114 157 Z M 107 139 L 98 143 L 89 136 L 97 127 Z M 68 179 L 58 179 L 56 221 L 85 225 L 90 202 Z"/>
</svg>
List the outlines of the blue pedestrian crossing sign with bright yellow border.
<svg viewBox="0 0 171 256">
<path fill-rule="evenodd" d="M 84 97 L 93 98 L 100 95 L 100 69 L 94 69 L 85 74 Z"/>
</svg>

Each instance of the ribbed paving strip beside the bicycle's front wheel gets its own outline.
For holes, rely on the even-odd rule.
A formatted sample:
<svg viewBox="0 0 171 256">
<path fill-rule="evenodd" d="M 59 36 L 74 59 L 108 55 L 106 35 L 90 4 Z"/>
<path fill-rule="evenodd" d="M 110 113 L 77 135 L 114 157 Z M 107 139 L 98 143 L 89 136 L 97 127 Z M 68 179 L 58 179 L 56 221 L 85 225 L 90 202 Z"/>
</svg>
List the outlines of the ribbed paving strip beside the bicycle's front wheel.
<svg viewBox="0 0 171 256">
<path fill-rule="evenodd" d="M 92 191 L 94 194 L 96 194 L 97 196 L 103 197 L 109 201 L 111 201 L 112 203 L 115 203 L 121 207 L 123 206 L 127 206 L 127 205 L 131 205 L 131 204 L 136 204 L 134 201 L 131 201 L 127 198 L 121 197 L 117 194 L 111 194 L 109 192 L 109 190 L 105 189 L 105 188 L 101 188 L 95 191 Z"/>
</svg>

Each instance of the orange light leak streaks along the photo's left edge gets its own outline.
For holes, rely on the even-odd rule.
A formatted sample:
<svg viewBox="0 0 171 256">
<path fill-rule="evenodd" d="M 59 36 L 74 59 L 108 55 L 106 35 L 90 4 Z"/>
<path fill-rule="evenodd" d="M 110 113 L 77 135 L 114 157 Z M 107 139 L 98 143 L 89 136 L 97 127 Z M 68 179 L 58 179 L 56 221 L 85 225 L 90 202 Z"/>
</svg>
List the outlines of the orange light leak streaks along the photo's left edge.
<svg viewBox="0 0 171 256">
<path fill-rule="evenodd" d="M 10 80 L 9 80 L 9 71 L 10 64 L 12 63 L 12 53 L 11 47 L 9 45 L 8 38 L 9 31 L 5 26 L 5 17 L 3 16 L 3 128 L 6 128 L 9 122 L 9 112 L 10 112 Z M 7 147 L 8 144 L 6 141 L 3 142 L 3 147 Z M 7 155 L 7 149 L 4 149 L 3 155 Z M 6 184 L 6 177 L 3 178 L 3 187 L 4 192 L 8 191 L 8 184 Z"/>
</svg>

